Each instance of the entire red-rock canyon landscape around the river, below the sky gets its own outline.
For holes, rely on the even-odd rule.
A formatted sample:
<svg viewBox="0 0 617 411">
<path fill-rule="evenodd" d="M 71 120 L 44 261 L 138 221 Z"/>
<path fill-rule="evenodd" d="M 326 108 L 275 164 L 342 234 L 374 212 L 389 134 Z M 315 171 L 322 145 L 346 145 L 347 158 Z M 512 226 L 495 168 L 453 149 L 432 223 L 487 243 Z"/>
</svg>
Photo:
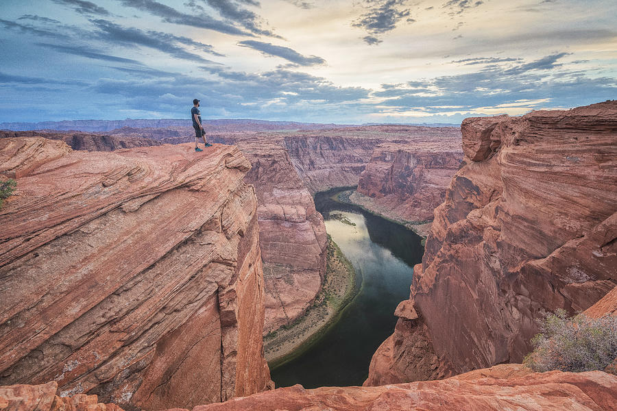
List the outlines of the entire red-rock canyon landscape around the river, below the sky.
<svg viewBox="0 0 617 411">
<path fill-rule="evenodd" d="M 616 101 L 467 119 L 461 131 L 224 132 L 199 155 L 154 135 L 110 152 L 95 134 L 32 135 L 0 138 L 0 175 L 18 182 L 0 210 L 0 384 L 53 381 L 62 398 L 125 410 L 617 401 L 617 377 L 602 371 L 503 364 L 529 352 L 542 310 L 615 312 Z M 409 299 L 364 388 L 255 394 L 272 388 L 262 334 L 302 316 L 322 286 L 312 195 L 341 186 L 428 236 Z M 0 388 L 0 407 L 38 395 L 58 409 L 70 400 L 56 386 Z"/>
</svg>

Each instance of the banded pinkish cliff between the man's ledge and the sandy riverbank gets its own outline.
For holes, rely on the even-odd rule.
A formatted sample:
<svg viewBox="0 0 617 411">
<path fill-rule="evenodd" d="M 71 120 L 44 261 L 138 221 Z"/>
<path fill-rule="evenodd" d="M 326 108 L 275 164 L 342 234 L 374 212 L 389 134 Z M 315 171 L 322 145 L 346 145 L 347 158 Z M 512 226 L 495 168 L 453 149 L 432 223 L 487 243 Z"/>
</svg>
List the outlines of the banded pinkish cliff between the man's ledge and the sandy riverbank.
<svg viewBox="0 0 617 411">
<path fill-rule="evenodd" d="M 267 141 L 241 142 L 252 169 L 265 280 L 264 334 L 304 314 L 326 273 L 326 226 L 285 148 Z"/>
</svg>

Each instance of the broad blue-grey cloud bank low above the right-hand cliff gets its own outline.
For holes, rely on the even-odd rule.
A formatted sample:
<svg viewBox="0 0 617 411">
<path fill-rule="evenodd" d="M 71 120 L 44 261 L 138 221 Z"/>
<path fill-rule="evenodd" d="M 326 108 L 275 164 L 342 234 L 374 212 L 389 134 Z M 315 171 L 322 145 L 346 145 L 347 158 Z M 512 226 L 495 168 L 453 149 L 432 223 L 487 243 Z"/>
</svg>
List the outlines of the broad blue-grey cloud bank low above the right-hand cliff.
<svg viewBox="0 0 617 411">
<path fill-rule="evenodd" d="M 545 72 L 559 66 L 557 60 L 565 55 L 567 53 L 547 55 L 525 64 L 492 64 L 474 73 L 440 76 L 409 84 L 388 84 L 372 92 L 372 96 L 383 98 L 380 106 L 386 108 L 384 112 L 387 113 L 406 112 L 410 108 L 424 110 L 427 114 L 452 113 L 453 110 L 445 108 L 457 106 L 460 110 L 456 111 L 461 113 L 478 113 L 480 109 L 491 108 L 492 114 L 498 114 L 499 110 L 507 112 L 513 105 L 524 112 L 547 104 L 575 107 L 615 95 L 615 78 L 590 78 L 580 71 Z M 586 101 L 581 101 L 583 95 L 588 96 Z"/>
</svg>

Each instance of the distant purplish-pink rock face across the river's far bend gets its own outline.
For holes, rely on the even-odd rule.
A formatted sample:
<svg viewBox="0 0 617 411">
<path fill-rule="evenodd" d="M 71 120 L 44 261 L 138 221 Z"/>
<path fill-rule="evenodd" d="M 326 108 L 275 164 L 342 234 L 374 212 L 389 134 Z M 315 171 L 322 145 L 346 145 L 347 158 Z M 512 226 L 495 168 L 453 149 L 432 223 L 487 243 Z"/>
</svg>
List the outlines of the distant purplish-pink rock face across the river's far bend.
<svg viewBox="0 0 617 411">
<path fill-rule="evenodd" d="M 402 221 L 431 221 L 461 164 L 459 138 L 383 143 L 360 175 L 363 206 Z"/>
</svg>

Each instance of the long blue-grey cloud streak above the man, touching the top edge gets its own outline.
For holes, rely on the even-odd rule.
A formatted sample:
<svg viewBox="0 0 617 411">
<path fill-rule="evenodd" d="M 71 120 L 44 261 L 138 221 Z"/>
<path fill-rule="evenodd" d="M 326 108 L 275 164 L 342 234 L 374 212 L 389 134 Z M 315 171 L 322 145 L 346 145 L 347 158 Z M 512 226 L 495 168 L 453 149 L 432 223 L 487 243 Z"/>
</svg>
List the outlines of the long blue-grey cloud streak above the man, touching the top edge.
<svg viewBox="0 0 617 411">
<path fill-rule="evenodd" d="M 236 34 L 239 36 L 250 36 L 254 37 L 254 34 L 250 32 L 245 32 L 234 25 L 230 25 L 223 21 L 215 20 L 208 16 L 207 14 L 186 14 L 179 12 L 178 10 L 169 7 L 169 5 L 165 5 L 159 3 L 154 0 L 117 0 L 122 5 L 126 7 L 136 8 L 138 10 L 143 10 L 145 12 L 149 12 L 154 16 L 159 16 L 163 21 L 167 23 L 174 23 L 180 25 L 188 25 L 192 27 L 198 27 L 201 29 L 210 29 L 215 32 L 225 33 L 225 34 Z"/>
</svg>

